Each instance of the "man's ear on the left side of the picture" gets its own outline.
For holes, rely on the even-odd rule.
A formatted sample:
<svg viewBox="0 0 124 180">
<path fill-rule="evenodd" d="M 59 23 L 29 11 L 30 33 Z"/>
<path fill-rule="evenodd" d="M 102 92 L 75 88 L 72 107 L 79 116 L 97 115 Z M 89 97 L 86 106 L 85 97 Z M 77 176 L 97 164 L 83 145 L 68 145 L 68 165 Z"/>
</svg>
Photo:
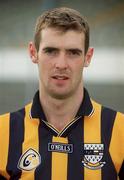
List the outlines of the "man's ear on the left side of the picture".
<svg viewBox="0 0 124 180">
<path fill-rule="evenodd" d="M 32 59 L 32 62 L 38 63 L 38 53 L 33 42 L 29 43 L 28 49 L 29 49 L 29 54 L 30 54 L 30 58 Z"/>
</svg>

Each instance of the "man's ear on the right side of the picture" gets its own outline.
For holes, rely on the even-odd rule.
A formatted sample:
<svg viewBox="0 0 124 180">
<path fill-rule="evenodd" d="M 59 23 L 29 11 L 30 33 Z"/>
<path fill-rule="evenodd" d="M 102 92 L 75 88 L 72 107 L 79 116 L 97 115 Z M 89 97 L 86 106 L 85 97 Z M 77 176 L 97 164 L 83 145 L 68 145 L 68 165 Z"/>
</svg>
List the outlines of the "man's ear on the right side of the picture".
<svg viewBox="0 0 124 180">
<path fill-rule="evenodd" d="M 88 67 L 90 65 L 93 53 L 94 53 L 94 48 L 89 48 L 85 55 L 84 67 Z"/>
</svg>

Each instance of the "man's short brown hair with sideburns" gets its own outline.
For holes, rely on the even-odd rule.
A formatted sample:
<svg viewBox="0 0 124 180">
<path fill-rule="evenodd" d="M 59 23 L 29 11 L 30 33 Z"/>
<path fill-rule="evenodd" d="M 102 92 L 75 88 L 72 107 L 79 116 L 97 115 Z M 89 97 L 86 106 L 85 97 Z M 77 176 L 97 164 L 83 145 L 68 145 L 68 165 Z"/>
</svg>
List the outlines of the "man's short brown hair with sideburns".
<svg viewBox="0 0 124 180">
<path fill-rule="evenodd" d="M 85 54 L 89 48 L 89 26 L 83 16 L 76 10 L 70 8 L 55 8 L 45 11 L 37 19 L 34 35 L 34 44 L 39 50 L 42 40 L 41 32 L 45 28 L 54 28 L 62 33 L 69 30 L 83 32 L 85 34 Z"/>
</svg>

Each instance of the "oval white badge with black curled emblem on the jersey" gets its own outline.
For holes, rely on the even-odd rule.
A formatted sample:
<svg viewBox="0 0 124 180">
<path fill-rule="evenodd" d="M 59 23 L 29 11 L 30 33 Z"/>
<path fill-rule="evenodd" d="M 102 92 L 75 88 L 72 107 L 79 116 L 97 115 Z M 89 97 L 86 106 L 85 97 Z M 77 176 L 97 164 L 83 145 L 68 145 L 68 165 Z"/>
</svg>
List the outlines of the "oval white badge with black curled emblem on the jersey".
<svg viewBox="0 0 124 180">
<path fill-rule="evenodd" d="M 41 163 L 40 154 L 30 148 L 22 154 L 18 162 L 18 168 L 25 171 L 31 171 L 35 169 Z"/>
</svg>

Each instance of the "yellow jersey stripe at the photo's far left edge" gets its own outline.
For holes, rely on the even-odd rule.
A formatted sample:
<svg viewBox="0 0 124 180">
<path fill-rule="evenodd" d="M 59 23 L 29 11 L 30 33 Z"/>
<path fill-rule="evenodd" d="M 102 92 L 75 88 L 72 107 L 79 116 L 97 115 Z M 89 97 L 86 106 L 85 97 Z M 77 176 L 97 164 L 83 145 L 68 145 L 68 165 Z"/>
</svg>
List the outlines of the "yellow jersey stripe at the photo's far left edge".
<svg viewBox="0 0 124 180">
<path fill-rule="evenodd" d="M 6 172 L 6 164 L 8 159 L 9 145 L 9 118 L 9 114 L 0 116 L 0 174 L 8 179 L 9 175 Z"/>
</svg>

